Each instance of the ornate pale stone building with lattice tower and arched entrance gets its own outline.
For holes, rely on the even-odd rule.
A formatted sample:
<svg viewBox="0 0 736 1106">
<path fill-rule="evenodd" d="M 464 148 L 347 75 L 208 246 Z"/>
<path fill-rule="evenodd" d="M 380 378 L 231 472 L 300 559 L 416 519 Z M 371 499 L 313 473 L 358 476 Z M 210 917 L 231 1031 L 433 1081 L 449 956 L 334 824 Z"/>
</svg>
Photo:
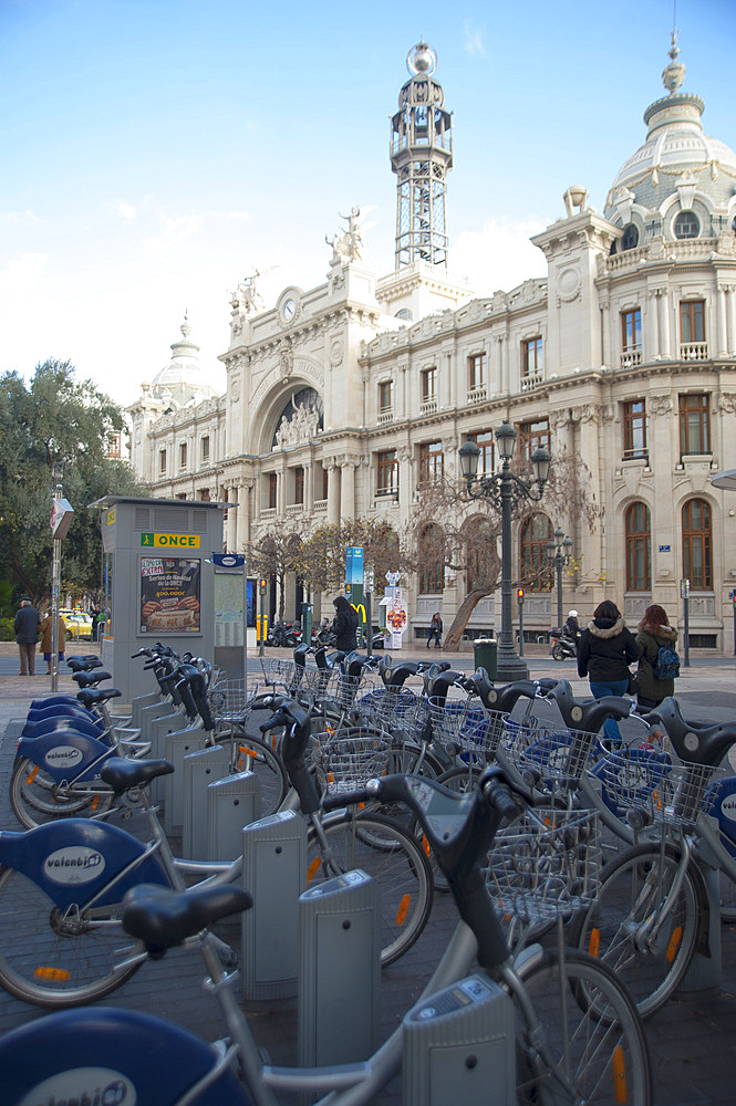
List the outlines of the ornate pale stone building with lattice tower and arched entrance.
<svg viewBox="0 0 736 1106">
<path fill-rule="evenodd" d="M 736 501 L 709 477 L 736 468 L 736 154 L 704 133 L 677 53 L 673 42 L 667 95 L 646 109 L 644 144 L 603 215 L 571 187 L 562 217 L 532 239 L 547 278 L 474 298 L 447 268 L 452 117 L 433 51 L 414 48 L 391 127 L 394 271 L 377 278 L 363 262 L 352 209 L 329 241 L 325 283 L 286 288 L 265 310 L 258 274 L 246 281 L 221 396 L 193 367 L 183 327 L 172 365 L 129 409 L 132 461 L 152 493 L 237 502 L 229 550 L 284 521 L 305 530 L 360 514 L 401 531 L 423 479 L 458 474 L 467 437 L 493 463 L 508 418 L 521 448 L 580 453 L 603 508 L 590 532 L 548 517 L 542 500 L 515 524 L 517 563 L 561 526 L 578 563 L 566 611 L 587 618 L 611 597 L 630 624 L 651 602 L 674 619 L 686 577 L 691 645 L 727 650 Z M 405 583 L 414 636 L 436 609 L 447 627 L 467 586 L 431 572 Z M 548 630 L 554 604 L 532 591 L 525 629 Z M 498 622 L 490 597 L 469 630 Z"/>
</svg>

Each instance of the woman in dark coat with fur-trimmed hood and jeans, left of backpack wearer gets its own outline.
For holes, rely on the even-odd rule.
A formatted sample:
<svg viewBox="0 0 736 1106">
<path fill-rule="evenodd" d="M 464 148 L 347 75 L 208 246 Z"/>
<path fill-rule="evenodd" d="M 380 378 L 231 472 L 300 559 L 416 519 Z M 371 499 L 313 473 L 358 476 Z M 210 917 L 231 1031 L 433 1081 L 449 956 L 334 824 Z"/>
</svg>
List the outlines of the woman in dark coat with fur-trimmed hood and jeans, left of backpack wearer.
<svg viewBox="0 0 736 1106">
<path fill-rule="evenodd" d="M 632 679 L 629 665 L 639 659 L 639 646 L 626 627 L 623 615 L 611 599 L 603 599 L 595 607 L 578 646 L 578 675 L 590 679 L 594 699 L 607 695 L 624 696 Z M 614 718 L 607 718 L 603 726 L 610 742 L 620 742 L 621 732 Z"/>
</svg>

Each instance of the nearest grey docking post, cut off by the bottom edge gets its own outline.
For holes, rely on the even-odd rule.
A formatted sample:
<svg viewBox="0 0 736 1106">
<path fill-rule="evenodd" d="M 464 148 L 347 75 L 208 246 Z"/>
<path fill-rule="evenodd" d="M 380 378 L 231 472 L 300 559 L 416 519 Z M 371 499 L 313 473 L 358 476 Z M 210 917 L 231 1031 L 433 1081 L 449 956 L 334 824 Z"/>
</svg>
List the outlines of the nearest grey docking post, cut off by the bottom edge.
<svg viewBox="0 0 736 1106">
<path fill-rule="evenodd" d="M 516 1106 L 514 1003 L 485 975 L 419 1001 L 402 1024 L 403 1106 Z"/>
</svg>

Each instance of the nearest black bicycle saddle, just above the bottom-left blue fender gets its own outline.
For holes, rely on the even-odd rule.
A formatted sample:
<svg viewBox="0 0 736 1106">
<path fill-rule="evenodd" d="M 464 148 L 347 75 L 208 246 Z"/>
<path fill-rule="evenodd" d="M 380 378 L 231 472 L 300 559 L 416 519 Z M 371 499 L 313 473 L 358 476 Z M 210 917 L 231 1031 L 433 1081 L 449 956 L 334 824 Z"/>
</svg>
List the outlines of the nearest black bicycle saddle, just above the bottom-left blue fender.
<svg viewBox="0 0 736 1106">
<path fill-rule="evenodd" d="M 152 956 L 180 945 L 220 918 L 253 905 L 241 887 L 193 887 L 175 891 L 155 884 L 138 884 L 123 899 L 123 929 L 143 941 Z"/>
</svg>

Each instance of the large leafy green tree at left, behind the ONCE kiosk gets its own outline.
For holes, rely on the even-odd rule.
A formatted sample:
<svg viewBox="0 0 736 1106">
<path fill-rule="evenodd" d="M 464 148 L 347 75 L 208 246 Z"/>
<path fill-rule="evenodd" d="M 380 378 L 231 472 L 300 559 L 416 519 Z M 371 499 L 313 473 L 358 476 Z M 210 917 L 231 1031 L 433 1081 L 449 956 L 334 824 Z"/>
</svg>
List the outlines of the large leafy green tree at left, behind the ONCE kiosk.
<svg viewBox="0 0 736 1106">
<path fill-rule="evenodd" d="M 62 573 L 80 591 L 100 586 L 100 518 L 87 504 L 105 494 L 141 494 L 131 467 L 107 457 L 124 429 L 121 408 L 70 362 L 37 365 L 29 386 L 0 376 L 0 576 L 43 603 L 51 585 L 51 505 L 56 483 L 74 508 L 62 544 Z"/>
</svg>

